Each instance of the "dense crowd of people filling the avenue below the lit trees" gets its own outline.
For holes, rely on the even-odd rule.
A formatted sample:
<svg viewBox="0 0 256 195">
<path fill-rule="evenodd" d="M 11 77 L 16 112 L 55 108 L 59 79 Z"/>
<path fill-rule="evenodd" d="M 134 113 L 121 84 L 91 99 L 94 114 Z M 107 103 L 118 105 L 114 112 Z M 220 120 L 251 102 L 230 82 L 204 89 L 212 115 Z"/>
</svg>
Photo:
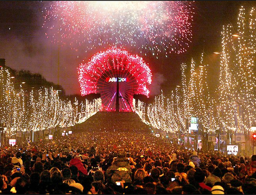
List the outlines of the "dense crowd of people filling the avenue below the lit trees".
<svg viewBox="0 0 256 195">
<path fill-rule="evenodd" d="M 3 146 L 0 160 L 2 194 L 256 192 L 256 155 L 191 151 L 136 130 Z"/>
</svg>

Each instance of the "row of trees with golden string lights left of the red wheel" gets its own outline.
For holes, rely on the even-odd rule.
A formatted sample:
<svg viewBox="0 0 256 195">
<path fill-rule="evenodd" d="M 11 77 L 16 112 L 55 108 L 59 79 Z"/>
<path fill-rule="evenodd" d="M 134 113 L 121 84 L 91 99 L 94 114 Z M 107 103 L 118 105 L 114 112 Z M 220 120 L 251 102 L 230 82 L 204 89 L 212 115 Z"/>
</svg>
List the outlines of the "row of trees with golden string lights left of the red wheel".
<svg viewBox="0 0 256 195">
<path fill-rule="evenodd" d="M 101 98 L 91 102 L 61 99 L 58 91 L 14 89 L 8 68 L 0 69 L 0 125 L 7 137 L 16 132 L 32 132 L 67 128 L 84 122 L 101 108 Z"/>
</svg>

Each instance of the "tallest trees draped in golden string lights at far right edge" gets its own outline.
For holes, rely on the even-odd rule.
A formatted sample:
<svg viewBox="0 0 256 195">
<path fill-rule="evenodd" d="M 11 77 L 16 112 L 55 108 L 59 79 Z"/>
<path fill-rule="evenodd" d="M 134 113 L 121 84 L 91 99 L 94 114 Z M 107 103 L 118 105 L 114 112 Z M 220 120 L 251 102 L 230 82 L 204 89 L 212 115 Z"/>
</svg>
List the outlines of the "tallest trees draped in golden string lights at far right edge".
<svg viewBox="0 0 256 195">
<path fill-rule="evenodd" d="M 248 133 L 255 123 L 255 16 L 254 8 L 246 13 L 241 7 L 237 26 L 223 27 L 217 104 L 225 132 Z"/>
</svg>

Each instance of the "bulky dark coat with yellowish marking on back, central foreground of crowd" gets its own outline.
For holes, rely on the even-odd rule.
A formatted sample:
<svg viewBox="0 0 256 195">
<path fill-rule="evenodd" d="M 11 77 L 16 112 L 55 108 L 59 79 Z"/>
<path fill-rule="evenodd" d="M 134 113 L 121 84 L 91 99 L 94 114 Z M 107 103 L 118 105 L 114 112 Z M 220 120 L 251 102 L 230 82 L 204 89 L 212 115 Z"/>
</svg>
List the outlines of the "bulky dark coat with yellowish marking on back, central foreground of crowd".
<svg viewBox="0 0 256 195">
<path fill-rule="evenodd" d="M 112 165 L 107 168 L 106 179 L 111 183 L 124 180 L 125 183 L 131 183 L 131 166 L 129 160 L 117 158 Z"/>
</svg>

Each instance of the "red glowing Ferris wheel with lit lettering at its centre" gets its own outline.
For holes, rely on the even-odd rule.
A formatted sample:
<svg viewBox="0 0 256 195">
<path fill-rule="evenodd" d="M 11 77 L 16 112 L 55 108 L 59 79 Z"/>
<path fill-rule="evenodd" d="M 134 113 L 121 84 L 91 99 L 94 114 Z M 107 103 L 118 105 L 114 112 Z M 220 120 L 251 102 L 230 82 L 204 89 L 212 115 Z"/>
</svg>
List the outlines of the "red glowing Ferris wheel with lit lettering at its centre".
<svg viewBox="0 0 256 195">
<path fill-rule="evenodd" d="M 95 54 L 87 63 L 81 63 L 78 81 L 82 96 L 101 94 L 102 111 L 116 111 L 118 91 L 119 111 L 131 112 L 134 94 L 149 97 L 152 74 L 141 57 L 111 48 Z"/>
</svg>

